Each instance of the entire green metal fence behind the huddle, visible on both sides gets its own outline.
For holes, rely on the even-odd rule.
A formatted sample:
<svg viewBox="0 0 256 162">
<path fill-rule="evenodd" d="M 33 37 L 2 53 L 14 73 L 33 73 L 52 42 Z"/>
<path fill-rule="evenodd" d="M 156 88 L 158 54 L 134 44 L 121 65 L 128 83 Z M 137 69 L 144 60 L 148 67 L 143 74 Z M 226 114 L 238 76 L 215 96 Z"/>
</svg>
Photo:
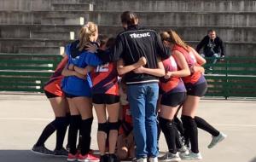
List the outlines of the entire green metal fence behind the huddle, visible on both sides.
<svg viewBox="0 0 256 162">
<path fill-rule="evenodd" d="M 43 92 L 61 55 L 0 54 L 0 91 Z M 207 96 L 256 97 L 256 57 L 207 58 Z M 212 68 L 210 70 L 209 68 Z"/>
</svg>

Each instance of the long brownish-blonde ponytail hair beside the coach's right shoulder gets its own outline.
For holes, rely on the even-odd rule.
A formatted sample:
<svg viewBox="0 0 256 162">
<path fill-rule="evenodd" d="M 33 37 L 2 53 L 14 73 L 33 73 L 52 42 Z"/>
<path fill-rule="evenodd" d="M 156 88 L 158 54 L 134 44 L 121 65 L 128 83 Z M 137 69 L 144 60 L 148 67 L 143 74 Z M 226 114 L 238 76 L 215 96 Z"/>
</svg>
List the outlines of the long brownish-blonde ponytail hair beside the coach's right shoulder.
<svg viewBox="0 0 256 162">
<path fill-rule="evenodd" d="M 183 47 L 186 50 L 189 50 L 189 45 L 184 43 L 184 41 L 177 35 L 177 32 L 174 32 L 172 30 L 161 32 L 160 38 L 162 41 L 167 41 L 173 44 L 177 44 L 181 47 Z"/>
</svg>

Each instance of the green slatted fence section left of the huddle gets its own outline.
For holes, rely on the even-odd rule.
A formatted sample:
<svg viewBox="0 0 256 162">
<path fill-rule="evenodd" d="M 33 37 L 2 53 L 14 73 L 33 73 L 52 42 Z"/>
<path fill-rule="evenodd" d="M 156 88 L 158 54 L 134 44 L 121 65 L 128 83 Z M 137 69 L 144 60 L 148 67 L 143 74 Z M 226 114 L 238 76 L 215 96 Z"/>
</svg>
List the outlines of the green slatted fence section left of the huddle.
<svg viewBox="0 0 256 162">
<path fill-rule="evenodd" d="M 61 55 L 0 54 L 0 91 L 43 92 Z"/>
</svg>

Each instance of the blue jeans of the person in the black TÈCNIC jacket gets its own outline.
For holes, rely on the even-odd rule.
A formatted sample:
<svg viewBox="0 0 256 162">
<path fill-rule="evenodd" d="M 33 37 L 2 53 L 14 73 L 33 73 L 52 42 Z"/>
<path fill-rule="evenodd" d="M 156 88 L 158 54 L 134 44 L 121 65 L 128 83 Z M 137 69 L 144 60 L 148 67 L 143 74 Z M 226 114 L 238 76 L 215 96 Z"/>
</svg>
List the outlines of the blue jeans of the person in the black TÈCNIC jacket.
<svg viewBox="0 0 256 162">
<path fill-rule="evenodd" d="M 158 94 L 159 86 L 156 83 L 127 86 L 137 159 L 158 156 L 155 112 Z"/>
</svg>

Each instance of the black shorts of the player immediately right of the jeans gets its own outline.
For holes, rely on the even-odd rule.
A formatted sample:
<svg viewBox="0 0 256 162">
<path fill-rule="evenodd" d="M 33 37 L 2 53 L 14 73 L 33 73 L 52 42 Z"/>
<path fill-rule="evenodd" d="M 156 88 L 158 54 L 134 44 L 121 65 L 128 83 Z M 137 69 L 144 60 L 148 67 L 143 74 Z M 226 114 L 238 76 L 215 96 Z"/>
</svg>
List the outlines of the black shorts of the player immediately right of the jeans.
<svg viewBox="0 0 256 162">
<path fill-rule="evenodd" d="M 186 92 L 177 92 L 170 94 L 163 94 L 161 98 L 161 105 L 166 105 L 169 107 L 177 107 L 182 104 L 186 99 Z"/>
</svg>

